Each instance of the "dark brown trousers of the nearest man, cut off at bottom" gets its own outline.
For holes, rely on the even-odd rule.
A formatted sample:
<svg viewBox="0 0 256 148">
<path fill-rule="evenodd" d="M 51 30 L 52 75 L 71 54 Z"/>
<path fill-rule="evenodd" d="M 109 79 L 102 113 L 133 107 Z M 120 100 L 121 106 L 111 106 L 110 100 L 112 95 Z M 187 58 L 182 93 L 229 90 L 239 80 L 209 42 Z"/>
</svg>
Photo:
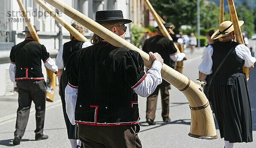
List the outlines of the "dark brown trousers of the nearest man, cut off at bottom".
<svg viewBox="0 0 256 148">
<path fill-rule="evenodd" d="M 84 148 L 142 148 L 138 137 L 140 125 L 78 125 L 78 136 Z"/>
</svg>

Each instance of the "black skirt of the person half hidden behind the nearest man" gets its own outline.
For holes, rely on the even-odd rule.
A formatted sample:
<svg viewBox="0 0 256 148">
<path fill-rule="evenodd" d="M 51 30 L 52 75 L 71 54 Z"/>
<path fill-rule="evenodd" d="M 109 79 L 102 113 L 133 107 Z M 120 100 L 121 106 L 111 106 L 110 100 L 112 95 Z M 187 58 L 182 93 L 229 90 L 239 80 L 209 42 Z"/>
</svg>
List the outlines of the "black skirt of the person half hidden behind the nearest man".
<svg viewBox="0 0 256 148">
<path fill-rule="evenodd" d="M 79 139 L 77 135 L 78 127 L 77 125 L 72 125 L 70 123 L 70 120 L 68 119 L 68 116 L 66 113 L 65 88 L 67 87 L 67 83 L 68 83 L 68 79 L 64 70 L 61 75 L 61 82 L 59 85 L 60 85 L 61 102 L 62 102 L 62 108 L 64 113 L 64 119 L 67 126 L 67 136 L 68 136 L 68 139 Z"/>
</svg>

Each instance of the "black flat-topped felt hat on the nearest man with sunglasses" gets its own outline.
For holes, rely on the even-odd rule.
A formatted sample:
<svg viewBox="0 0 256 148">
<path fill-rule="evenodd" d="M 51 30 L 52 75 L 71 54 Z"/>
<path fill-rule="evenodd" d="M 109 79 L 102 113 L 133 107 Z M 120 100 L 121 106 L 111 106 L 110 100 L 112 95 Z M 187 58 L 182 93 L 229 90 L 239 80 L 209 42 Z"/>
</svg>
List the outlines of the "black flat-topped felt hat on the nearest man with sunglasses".
<svg viewBox="0 0 256 148">
<path fill-rule="evenodd" d="M 113 22 L 123 22 L 131 23 L 132 20 L 124 19 L 121 10 L 102 10 L 96 12 L 97 23 L 113 23 Z"/>
</svg>

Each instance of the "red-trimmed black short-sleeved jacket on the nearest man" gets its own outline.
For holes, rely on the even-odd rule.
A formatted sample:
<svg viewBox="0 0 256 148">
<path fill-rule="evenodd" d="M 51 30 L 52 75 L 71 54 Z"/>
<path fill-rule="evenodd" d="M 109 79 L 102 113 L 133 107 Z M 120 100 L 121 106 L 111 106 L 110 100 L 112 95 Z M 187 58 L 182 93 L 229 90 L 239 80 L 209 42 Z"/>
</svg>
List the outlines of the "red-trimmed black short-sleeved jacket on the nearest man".
<svg viewBox="0 0 256 148">
<path fill-rule="evenodd" d="M 145 78 L 144 63 L 136 51 L 99 43 L 69 58 L 66 74 L 78 88 L 76 123 L 96 126 L 136 124 L 138 97 L 132 88 Z"/>
</svg>

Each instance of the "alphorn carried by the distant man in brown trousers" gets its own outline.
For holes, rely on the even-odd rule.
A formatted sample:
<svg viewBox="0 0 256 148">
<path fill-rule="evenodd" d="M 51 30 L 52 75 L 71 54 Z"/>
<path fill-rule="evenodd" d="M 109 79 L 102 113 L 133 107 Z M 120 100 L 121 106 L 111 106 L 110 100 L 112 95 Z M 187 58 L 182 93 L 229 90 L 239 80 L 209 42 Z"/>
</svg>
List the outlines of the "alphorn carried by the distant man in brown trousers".
<svg viewBox="0 0 256 148">
<path fill-rule="evenodd" d="M 150 12 L 152 13 L 152 15 L 154 16 L 154 19 L 157 21 L 158 27 L 160 29 L 160 31 L 162 32 L 163 36 L 166 38 L 169 38 L 169 40 L 173 41 L 171 35 L 169 34 L 169 32 L 167 31 L 166 27 L 163 25 L 163 23 L 161 22 L 161 19 L 158 15 L 158 13 L 154 10 L 153 6 L 151 5 L 151 3 L 148 0 L 145 0 L 145 4 L 148 6 L 148 9 L 150 10 Z M 180 46 L 180 48 L 175 44 L 175 42 L 173 42 L 175 48 L 177 49 L 177 52 L 180 52 L 180 50 L 183 50 L 183 46 Z M 179 61 L 176 64 L 175 69 L 180 72 L 183 73 L 183 61 Z"/>
</svg>

